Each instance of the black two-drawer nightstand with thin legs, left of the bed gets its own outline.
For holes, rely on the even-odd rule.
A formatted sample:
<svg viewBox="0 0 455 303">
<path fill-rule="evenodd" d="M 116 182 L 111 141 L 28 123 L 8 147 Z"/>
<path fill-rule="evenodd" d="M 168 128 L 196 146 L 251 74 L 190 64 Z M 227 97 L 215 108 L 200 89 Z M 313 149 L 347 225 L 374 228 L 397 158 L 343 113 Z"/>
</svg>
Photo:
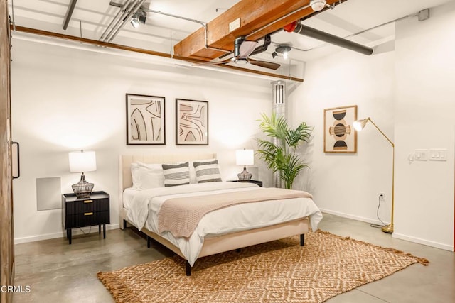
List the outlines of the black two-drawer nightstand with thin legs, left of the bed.
<svg viewBox="0 0 455 303">
<path fill-rule="evenodd" d="M 66 238 L 71 244 L 71 228 L 98 226 L 98 233 L 106 238 L 106 224 L 110 223 L 109 194 L 92 192 L 88 198 L 77 198 L 75 194 L 62 194 L 62 222 Z"/>
</svg>

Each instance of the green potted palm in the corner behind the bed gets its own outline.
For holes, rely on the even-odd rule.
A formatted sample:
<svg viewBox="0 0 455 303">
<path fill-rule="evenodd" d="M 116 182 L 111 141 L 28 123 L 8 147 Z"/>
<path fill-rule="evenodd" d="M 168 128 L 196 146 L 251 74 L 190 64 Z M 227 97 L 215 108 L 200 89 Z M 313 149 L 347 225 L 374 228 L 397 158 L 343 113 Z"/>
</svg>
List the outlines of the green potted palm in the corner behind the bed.
<svg viewBox="0 0 455 303">
<path fill-rule="evenodd" d="M 278 172 L 285 188 L 291 189 L 299 172 L 308 166 L 296 153 L 296 149 L 301 143 L 309 142 L 313 127 L 302 122 L 295 129 L 291 129 L 284 116 L 277 116 L 275 113 L 270 117 L 266 114 L 261 116 L 259 128 L 272 138 L 272 141 L 258 140 L 259 158 L 269 165 L 270 170 Z"/>
</svg>

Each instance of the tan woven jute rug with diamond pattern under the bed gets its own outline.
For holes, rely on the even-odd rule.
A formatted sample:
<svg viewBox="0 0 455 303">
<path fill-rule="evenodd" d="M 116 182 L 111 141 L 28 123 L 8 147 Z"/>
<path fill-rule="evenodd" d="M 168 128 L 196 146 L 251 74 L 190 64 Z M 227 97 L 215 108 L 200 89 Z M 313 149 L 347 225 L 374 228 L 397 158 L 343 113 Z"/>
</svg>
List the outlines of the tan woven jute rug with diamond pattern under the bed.
<svg viewBox="0 0 455 303">
<path fill-rule="evenodd" d="M 428 261 L 316 231 L 200 258 L 189 277 L 178 256 L 97 277 L 116 302 L 324 302 L 414 263 Z"/>
</svg>

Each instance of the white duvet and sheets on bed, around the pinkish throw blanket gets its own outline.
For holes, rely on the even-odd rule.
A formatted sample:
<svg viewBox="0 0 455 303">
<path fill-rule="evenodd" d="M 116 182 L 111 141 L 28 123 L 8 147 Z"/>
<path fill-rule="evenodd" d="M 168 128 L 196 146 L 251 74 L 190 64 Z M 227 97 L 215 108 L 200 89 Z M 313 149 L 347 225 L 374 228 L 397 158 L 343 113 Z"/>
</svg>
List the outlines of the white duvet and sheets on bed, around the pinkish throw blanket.
<svg viewBox="0 0 455 303">
<path fill-rule="evenodd" d="M 209 182 L 142 191 L 126 190 L 124 193 L 124 207 L 127 208 L 126 219 L 139 230 L 145 227 L 149 231 L 158 233 L 158 211 L 166 199 L 261 189 L 262 187 L 252 183 Z M 259 204 L 260 206 L 258 206 Z M 175 238 L 168 231 L 159 233 L 159 235 L 178 246 L 188 263 L 193 265 L 203 246 L 205 236 L 245 231 L 306 216 L 309 216 L 311 228 L 315 231 L 322 219 L 322 214 L 313 200 L 309 198 L 237 204 L 205 214 L 190 238 Z"/>
</svg>

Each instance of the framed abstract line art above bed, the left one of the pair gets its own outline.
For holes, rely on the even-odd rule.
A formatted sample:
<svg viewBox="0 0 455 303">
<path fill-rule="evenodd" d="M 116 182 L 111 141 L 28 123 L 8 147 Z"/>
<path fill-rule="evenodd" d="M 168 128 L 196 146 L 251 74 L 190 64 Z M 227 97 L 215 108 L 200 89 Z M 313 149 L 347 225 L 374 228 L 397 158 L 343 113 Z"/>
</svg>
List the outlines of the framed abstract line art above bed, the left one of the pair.
<svg viewBox="0 0 455 303">
<path fill-rule="evenodd" d="M 164 97 L 126 94 L 127 145 L 166 145 Z"/>
</svg>

